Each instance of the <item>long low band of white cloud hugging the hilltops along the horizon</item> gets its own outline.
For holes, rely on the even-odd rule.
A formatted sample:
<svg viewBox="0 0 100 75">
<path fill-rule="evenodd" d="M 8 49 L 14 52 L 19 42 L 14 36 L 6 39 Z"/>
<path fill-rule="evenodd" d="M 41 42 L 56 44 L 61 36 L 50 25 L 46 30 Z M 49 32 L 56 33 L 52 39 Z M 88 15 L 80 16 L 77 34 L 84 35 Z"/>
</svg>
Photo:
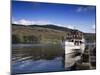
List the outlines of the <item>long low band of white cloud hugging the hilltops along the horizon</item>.
<svg viewBox="0 0 100 75">
<path fill-rule="evenodd" d="M 53 23 L 53 22 L 50 22 L 50 21 L 43 21 L 43 20 L 38 20 L 38 21 L 34 21 L 34 20 L 26 20 L 26 19 L 20 19 L 20 20 L 12 20 L 12 23 L 13 24 L 21 24 L 21 25 L 34 25 L 34 24 L 37 24 L 37 25 L 46 25 L 46 24 L 53 24 L 53 25 L 57 25 L 57 26 L 61 26 L 61 27 L 66 27 L 66 28 L 70 28 L 70 29 L 78 29 L 78 30 L 81 30 L 83 32 L 85 31 L 88 31 L 86 30 L 87 28 L 83 28 L 83 27 L 79 27 L 78 25 L 64 25 L 64 24 L 57 24 L 57 23 Z M 76 26 L 76 27 L 75 27 Z M 81 25 L 80 25 L 81 26 Z M 92 32 L 95 32 L 95 24 L 92 25 L 90 27 L 90 30 Z"/>
</svg>

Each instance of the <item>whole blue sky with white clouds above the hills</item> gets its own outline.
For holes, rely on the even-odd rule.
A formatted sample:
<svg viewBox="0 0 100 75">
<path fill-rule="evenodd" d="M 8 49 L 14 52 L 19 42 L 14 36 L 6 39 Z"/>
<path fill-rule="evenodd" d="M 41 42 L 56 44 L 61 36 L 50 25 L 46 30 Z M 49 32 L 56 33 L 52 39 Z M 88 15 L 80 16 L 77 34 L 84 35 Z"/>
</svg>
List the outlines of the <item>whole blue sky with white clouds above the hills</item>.
<svg viewBox="0 0 100 75">
<path fill-rule="evenodd" d="M 95 6 L 12 1 L 11 13 L 15 24 L 55 24 L 87 33 L 95 32 Z"/>
</svg>

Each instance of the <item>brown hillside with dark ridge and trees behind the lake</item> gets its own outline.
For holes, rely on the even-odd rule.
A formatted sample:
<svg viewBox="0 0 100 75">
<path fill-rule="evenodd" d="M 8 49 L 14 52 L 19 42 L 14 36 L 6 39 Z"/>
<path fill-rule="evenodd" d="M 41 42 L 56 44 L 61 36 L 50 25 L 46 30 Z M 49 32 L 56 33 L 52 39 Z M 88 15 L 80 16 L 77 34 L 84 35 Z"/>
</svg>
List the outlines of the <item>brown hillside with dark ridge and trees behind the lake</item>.
<svg viewBox="0 0 100 75">
<path fill-rule="evenodd" d="M 17 25 L 12 24 L 12 43 L 61 43 L 73 29 L 57 25 Z M 83 33 L 79 30 L 77 32 Z M 95 34 L 83 33 L 87 42 L 95 40 Z M 91 41 L 93 40 L 93 41 Z"/>
</svg>

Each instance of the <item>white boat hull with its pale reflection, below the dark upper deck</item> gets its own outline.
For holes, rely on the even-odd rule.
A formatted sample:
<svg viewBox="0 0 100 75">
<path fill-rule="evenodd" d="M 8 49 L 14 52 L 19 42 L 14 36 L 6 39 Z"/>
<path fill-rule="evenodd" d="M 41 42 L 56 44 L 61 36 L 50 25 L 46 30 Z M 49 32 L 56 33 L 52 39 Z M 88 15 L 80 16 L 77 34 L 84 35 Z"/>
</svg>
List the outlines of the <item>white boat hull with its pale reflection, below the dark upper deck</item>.
<svg viewBox="0 0 100 75">
<path fill-rule="evenodd" d="M 65 69 L 73 66 L 81 59 L 85 50 L 85 44 L 74 45 L 73 42 L 65 42 Z"/>
</svg>

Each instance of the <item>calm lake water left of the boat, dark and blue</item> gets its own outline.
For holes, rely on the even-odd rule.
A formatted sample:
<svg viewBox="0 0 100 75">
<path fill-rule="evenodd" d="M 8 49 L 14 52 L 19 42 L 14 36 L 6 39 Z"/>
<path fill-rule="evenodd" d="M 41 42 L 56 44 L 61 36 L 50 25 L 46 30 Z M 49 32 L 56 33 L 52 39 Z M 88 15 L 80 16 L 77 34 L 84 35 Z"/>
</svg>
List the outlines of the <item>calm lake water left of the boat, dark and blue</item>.
<svg viewBox="0 0 100 75">
<path fill-rule="evenodd" d="M 64 49 L 61 45 L 13 45 L 11 69 L 13 74 L 62 71 Z"/>
</svg>

